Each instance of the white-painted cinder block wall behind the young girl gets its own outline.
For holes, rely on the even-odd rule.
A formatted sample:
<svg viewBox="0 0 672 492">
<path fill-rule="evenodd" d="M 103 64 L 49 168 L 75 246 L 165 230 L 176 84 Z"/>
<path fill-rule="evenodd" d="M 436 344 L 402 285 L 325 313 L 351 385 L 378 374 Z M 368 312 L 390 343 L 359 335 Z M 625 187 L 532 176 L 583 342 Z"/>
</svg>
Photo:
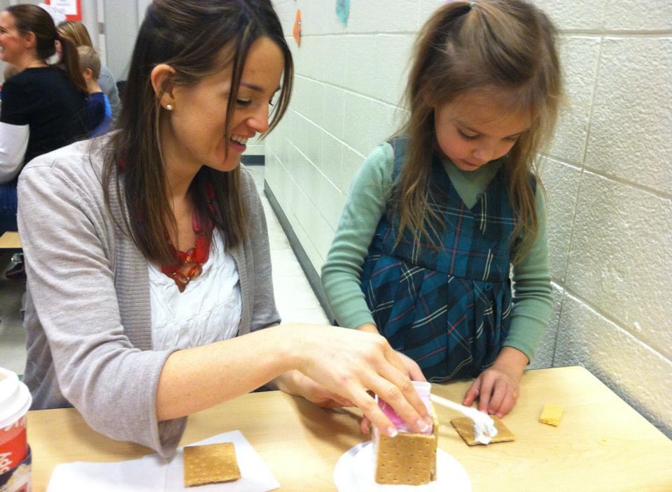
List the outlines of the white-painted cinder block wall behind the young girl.
<svg viewBox="0 0 672 492">
<path fill-rule="evenodd" d="M 672 2 L 536 3 L 561 29 L 570 104 L 541 166 L 555 306 L 533 367 L 585 366 L 672 437 Z M 316 272 L 441 4 L 357 0 L 344 27 L 335 1 L 276 1 L 297 75 L 265 140 L 267 187 Z"/>
</svg>

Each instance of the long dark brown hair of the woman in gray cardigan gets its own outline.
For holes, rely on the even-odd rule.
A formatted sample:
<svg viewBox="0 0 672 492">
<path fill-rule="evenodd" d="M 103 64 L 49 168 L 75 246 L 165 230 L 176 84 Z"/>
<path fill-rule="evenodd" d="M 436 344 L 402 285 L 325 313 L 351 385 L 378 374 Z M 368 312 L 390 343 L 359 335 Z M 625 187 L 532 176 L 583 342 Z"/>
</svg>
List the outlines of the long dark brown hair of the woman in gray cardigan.
<svg viewBox="0 0 672 492">
<path fill-rule="evenodd" d="M 289 103 L 293 61 L 281 24 L 269 0 L 155 0 L 148 7 L 132 55 L 123 92 L 122 111 L 113 133 L 113 150 L 106 157 L 104 190 L 110 203 L 109 184 L 116 176 L 116 192 L 125 203 L 127 229 L 146 258 L 173 263 L 166 231 L 176 228 L 169 202 L 168 183 L 160 149 L 159 119 L 162 108 L 151 84 L 151 71 L 168 64 L 176 74 L 169 86 L 195 85 L 221 70 L 222 53 L 232 67 L 225 138 L 231 136 L 231 121 L 238 86 L 250 46 L 270 38 L 284 55 L 281 93 L 274 106 L 269 131 Z M 122 164 L 120 169 L 120 163 Z M 215 225 L 228 247 L 247 237 L 246 210 L 241 198 L 240 170 L 220 172 L 203 166 L 190 184 L 189 193 L 206 223 L 209 217 L 207 187 L 214 191 Z"/>
</svg>

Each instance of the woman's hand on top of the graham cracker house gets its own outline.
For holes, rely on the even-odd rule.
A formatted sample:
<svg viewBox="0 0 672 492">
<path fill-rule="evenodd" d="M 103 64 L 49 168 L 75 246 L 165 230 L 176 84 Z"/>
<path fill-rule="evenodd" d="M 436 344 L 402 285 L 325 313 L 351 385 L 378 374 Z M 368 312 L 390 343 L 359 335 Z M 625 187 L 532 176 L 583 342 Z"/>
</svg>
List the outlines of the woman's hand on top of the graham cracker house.
<svg viewBox="0 0 672 492">
<path fill-rule="evenodd" d="M 416 432 L 430 417 L 399 354 L 375 333 L 332 326 L 287 325 L 293 366 L 328 391 L 349 400 L 387 435 L 396 428 L 370 392 L 385 400 Z"/>
</svg>

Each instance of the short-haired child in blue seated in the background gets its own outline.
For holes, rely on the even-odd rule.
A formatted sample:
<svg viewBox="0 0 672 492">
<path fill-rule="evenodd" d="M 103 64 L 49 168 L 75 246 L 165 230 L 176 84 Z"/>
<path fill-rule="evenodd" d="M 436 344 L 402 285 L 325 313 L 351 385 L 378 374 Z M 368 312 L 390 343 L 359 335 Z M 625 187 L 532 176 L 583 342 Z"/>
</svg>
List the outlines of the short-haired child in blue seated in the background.
<svg viewBox="0 0 672 492">
<path fill-rule="evenodd" d="M 79 64 L 86 81 L 89 97 L 86 100 L 86 113 L 89 127 L 92 128 L 90 137 L 104 135 L 112 126 L 112 108 L 106 94 L 98 85 L 100 75 L 100 57 L 90 46 L 78 46 Z"/>
</svg>

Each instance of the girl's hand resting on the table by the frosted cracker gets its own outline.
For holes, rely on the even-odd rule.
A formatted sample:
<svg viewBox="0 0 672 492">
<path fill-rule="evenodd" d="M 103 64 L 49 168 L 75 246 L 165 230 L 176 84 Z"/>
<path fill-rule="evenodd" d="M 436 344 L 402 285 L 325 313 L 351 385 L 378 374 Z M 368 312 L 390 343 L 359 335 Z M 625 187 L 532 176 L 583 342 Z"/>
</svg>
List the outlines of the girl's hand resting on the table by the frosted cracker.
<svg viewBox="0 0 672 492">
<path fill-rule="evenodd" d="M 519 350 L 503 347 L 492 367 L 481 372 L 467 390 L 462 404 L 469 407 L 478 398 L 478 410 L 504 417 L 516 404 L 519 381 L 528 362 Z"/>
</svg>

